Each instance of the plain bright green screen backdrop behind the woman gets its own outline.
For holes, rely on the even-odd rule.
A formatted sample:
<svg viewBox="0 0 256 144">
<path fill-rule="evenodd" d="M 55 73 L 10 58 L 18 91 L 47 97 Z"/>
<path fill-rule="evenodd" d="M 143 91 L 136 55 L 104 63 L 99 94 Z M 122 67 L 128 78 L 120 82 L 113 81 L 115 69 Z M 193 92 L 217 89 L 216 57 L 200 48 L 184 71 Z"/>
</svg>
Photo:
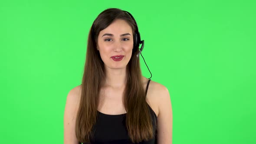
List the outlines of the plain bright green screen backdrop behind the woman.
<svg viewBox="0 0 256 144">
<path fill-rule="evenodd" d="M 256 144 L 253 0 L 1 1 L 1 144 L 63 144 L 90 26 L 110 7 L 135 17 L 151 79 L 170 92 L 173 144 Z"/>
</svg>

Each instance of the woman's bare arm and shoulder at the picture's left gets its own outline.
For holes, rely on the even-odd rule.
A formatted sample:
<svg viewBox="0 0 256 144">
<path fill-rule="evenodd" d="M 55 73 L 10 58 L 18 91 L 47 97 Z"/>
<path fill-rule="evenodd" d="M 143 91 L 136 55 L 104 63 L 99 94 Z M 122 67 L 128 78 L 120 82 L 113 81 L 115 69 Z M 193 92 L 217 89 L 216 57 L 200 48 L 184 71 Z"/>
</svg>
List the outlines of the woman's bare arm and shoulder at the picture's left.
<svg viewBox="0 0 256 144">
<path fill-rule="evenodd" d="M 79 106 L 79 86 L 70 90 L 64 112 L 64 144 L 78 144 L 75 136 L 75 121 Z"/>
</svg>

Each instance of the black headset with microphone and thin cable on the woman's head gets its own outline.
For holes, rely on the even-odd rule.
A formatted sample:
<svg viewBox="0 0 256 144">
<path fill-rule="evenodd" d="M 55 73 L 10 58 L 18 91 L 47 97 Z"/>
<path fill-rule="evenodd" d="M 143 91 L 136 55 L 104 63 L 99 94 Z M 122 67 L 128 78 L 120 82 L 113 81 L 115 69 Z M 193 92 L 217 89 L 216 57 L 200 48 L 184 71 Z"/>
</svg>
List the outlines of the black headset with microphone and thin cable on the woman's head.
<svg viewBox="0 0 256 144">
<path fill-rule="evenodd" d="M 139 33 L 138 25 L 137 25 L 137 23 L 136 23 L 135 18 L 134 18 L 134 17 L 131 15 L 131 13 L 129 13 L 128 11 L 125 11 L 125 10 L 122 10 L 122 11 L 125 12 L 125 13 L 128 13 L 128 15 L 131 17 L 131 19 L 134 20 L 134 22 L 135 22 L 135 26 L 136 26 L 136 27 L 135 27 L 135 33 L 134 33 L 134 36 L 133 36 L 133 46 L 134 46 L 134 47 L 138 47 L 138 46 L 140 46 L 140 44 L 141 44 L 141 48 L 139 49 L 139 52 L 138 52 L 138 54 L 136 55 L 137 58 L 138 58 L 138 57 L 140 56 L 140 54 L 141 54 L 143 48 L 144 48 L 144 40 L 141 40 L 141 35 L 140 35 L 140 33 Z M 95 20 L 97 20 L 97 18 L 96 18 Z M 94 20 L 93 25 L 92 25 L 92 35 L 94 35 L 94 23 L 95 23 L 95 20 Z M 144 60 L 144 62 L 145 62 L 145 59 L 144 59 L 144 57 L 142 56 L 142 54 L 141 54 L 141 57 L 143 58 L 143 60 Z M 145 62 L 145 64 L 146 64 L 146 62 Z M 147 64 L 146 64 L 146 66 L 147 66 L 147 68 L 148 68 L 148 65 L 147 65 Z M 148 68 L 148 71 L 150 72 L 149 68 Z M 151 72 L 150 72 L 150 75 L 151 75 L 151 77 L 152 77 Z M 148 78 L 148 79 L 151 79 L 151 77 Z"/>
</svg>

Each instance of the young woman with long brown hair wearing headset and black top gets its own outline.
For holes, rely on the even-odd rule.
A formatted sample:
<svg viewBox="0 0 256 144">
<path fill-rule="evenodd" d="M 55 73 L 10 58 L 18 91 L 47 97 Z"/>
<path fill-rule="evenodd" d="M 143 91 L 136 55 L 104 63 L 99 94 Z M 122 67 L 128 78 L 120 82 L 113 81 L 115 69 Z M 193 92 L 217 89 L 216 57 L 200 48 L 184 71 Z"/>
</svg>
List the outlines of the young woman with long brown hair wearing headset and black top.
<svg viewBox="0 0 256 144">
<path fill-rule="evenodd" d="M 64 144 L 171 144 L 167 88 L 141 74 L 135 19 L 116 8 L 89 32 L 82 84 L 70 90 Z M 138 55 L 138 57 L 137 57 Z"/>
</svg>

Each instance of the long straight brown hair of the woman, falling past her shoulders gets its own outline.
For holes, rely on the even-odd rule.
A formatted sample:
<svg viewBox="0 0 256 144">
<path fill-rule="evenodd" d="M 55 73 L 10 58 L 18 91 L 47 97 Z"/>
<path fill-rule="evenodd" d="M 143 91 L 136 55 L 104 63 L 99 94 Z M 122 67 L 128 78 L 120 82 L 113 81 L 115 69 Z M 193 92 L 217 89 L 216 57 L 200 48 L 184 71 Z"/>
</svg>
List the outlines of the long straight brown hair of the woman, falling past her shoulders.
<svg viewBox="0 0 256 144">
<path fill-rule="evenodd" d="M 131 26 L 133 34 L 135 33 L 135 21 L 128 13 L 117 8 L 106 9 L 100 13 L 89 32 L 81 98 L 75 124 L 79 142 L 90 143 L 93 137 L 92 127 L 96 122 L 99 92 L 105 80 L 104 62 L 96 49 L 98 34 L 117 19 L 125 20 Z M 125 124 L 133 143 L 147 141 L 155 134 L 142 83 L 140 61 L 136 57 L 138 52 L 138 47 L 132 49 L 131 59 L 126 66 L 127 81 L 123 97 L 127 111 Z"/>
</svg>

